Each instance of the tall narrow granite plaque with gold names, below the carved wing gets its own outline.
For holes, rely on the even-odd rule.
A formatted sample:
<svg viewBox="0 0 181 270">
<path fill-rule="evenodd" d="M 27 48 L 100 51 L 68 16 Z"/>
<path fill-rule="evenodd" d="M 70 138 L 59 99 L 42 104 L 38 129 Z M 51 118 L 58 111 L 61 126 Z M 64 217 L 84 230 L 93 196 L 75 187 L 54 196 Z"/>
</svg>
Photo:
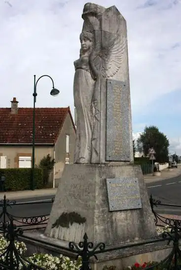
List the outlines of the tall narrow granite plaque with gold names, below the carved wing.
<svg viewBox="0 0 181 270">
<path fill-rule="evenodd" d="M 107 79 L 106 160 L 130 161 L 129 89 Z"/>
</svg>

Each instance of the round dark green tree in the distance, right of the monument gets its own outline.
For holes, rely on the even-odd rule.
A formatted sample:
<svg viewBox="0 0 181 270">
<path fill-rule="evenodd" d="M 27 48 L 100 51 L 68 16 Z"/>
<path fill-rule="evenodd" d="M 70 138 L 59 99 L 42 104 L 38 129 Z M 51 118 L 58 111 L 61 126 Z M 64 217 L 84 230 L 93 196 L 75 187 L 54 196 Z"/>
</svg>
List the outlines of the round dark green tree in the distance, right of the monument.
<svg viewBox="0 0 181 270">
<path fill-rule="evenodd" d="M 156 126 L 146 126 L 144 132 L 137 140 L 137 144 L 139 151 L 143 150 L 145 156 L 148 155 L 149 149 L 153 147 L 156 152 L 157 162 L 163 163 L 168 161 L 169 140 Z"/>
</svg>

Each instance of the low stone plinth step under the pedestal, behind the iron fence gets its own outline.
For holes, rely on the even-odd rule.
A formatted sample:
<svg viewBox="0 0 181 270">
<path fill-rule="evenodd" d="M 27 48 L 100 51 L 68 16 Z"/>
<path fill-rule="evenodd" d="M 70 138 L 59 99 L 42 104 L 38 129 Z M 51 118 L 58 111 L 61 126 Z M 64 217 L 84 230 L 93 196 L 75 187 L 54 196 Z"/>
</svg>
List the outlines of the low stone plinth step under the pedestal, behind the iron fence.
<svg viewBox="0 0 181 270">
<path fill-rule="evenodd" d="M 51 253 L 54 256 L 63 254 L 69 256 L 72 260 L 75 259 L 75 253 L 66 250 L 69 242 L 56 240 L 49 237 L 44 237 L 42 234 L 25 232 L 21 237 L 21 241 L 25 242 L 28 247 L 26 256 L 31 256 L 33 253 Z M 42 243 L 43 241 L 43 243 Z M 168 241 L 137 242 L 138 246 L 119 245 L 120 249 L 97 254 L 98 260 L 94 257 L 90 258 L 91 270 L 103 270 L 105 266 L 116 266 L 117 270 L 122 270 L 125 267 L 133 265 L 135 262 L 160 262 L 164 260 L 173 249 L 173 242 L 168 244 Z M 181 247 L 181 241 L 179 242 Z M 108 247 L 109 248 L 109 247 Z"/>
</svg>

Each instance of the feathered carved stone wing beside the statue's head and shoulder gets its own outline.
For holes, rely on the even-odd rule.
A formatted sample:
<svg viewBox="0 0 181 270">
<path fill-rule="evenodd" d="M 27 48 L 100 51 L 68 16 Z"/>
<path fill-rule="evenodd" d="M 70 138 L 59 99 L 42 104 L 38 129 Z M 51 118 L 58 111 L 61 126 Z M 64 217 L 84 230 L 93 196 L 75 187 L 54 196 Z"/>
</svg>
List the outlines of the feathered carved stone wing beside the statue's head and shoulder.
<svg viewBox="0 0 181 270">
<path fill-rule="evenodd" d="M 114 35 L 112 38 L 107 36 L 107 39 L 105 37 L 102 41 L 102 46 L 104 44 L 105 48 L 95 53 L 94 63 L 103 77 L 109 78 L 116 74 L 122 65 L 127 39 L 121 35 Z"/>
</svg>

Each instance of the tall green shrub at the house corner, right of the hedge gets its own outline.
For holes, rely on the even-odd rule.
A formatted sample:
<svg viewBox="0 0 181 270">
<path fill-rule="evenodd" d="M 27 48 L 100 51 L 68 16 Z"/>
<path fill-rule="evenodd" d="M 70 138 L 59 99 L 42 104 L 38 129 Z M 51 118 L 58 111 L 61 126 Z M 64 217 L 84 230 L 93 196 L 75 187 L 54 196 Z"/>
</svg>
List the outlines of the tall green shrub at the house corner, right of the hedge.
<svg viewBox="0 0 181 270">
<path fill-rule="evenodd" d="M 39 162 L 39 168 L 43 170 L 43 184 L 48 184 L 48 179 L 51 170 L 53 169 L 55 164 L 55 159 L 52 159 L 50 154 L 44 156 Z"/>
</svg>

